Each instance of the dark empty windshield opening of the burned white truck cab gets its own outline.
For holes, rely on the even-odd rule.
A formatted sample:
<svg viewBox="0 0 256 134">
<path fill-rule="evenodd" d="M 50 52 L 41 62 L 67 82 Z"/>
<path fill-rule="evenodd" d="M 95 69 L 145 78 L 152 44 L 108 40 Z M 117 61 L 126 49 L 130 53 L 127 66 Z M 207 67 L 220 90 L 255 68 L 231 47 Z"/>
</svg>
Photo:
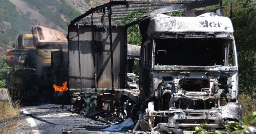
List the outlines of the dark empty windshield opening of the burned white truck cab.
<svg viewBox="0 0 256 134">
<path fill-rule="evenodd" d="M 156 39 L 154 65 L 228 66 L 231 44 L 232 39 Z"/>
</svg>

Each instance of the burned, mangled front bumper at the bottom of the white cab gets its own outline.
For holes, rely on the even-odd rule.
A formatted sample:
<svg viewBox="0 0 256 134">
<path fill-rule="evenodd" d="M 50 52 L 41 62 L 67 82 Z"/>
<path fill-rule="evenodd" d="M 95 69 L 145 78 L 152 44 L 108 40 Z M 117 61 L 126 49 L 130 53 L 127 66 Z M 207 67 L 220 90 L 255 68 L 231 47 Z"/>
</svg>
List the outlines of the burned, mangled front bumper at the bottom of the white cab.
<svg viewBox="0 0 256 134">
<path fill-rule="evenodd" d="M 200 124 L 205 124 L 204 128 L 211 131 L 216 128 L 224 128 L 224 124 L 227 120 L 241 122 L 243 110 L 239 103 L 229 102 L 225 106 L 212 109 L 172 109 L 166 111 L 149 111 L 148 116 L 167 117 L 168 123 L 159 123 L 160 126 L 166 128 L 193 130 L 194 127 L 200 126 Z"/>
</svg>

